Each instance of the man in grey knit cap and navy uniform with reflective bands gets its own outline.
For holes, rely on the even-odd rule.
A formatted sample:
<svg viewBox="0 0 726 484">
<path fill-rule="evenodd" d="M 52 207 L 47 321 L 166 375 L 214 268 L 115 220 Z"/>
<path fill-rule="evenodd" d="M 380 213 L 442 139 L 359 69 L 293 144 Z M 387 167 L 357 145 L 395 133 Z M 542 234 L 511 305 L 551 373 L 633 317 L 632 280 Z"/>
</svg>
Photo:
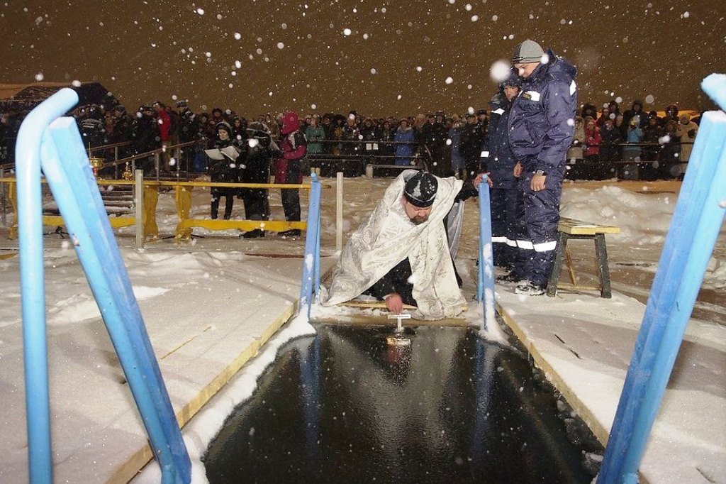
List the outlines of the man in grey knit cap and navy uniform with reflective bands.
<svg viewBox="0 0 726 484">
<path fill-rule="evenodd" d="M 523 78 L 509 116 L 514 174 L 522 190 L 517 246 L 529 254 L 515 265 L 521 277 L 515 292 L 538 296 L 555 259 L 565 158 L 574 137 L 576 69 L 529 39 L 515 49 L 512 62 Z"/>
</svg>

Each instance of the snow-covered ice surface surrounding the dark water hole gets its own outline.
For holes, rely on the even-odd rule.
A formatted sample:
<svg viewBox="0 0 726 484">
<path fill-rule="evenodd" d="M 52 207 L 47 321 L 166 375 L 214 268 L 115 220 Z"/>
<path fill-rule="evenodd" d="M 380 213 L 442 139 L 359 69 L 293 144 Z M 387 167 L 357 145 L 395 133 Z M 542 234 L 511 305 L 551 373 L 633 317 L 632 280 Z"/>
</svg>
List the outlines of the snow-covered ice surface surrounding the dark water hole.
<svg viewBox="0 0 726 484">
<path fill-rule="evenodd" d="M 370 214 L 390 181 L 364 177 L 345 180 L 345 234 Z M 323 182 L 333 187 L 336 183 Z M 563 216 L 621 227 L 621 234 L 607 235 L 613 299 L 601 299 L 590 292 L 523 299 L 515 297 L 511 287 L 497 286 L 499 304 L 529 331 L 531 343 L 539 344 L 552 368 L 558 368 L 560 378 L 582 382 L 573 385 L 572 391 L 587 403 L 590 414 L 582 416 L 596 427 L 609 428 L 611 423 L 608 419 L 615 411 L 620 379 L 677 199 L 675 193 L 656 193 L 659 190 L 653 185 L 643 186 L 650 188 L 636 193 L 625 184 L 613 182 L 611 186 L 568 184 L 563 190 Z M 192 216 L 205 217 L 208 192 L 195 190 L 193 195 Z M 304 210 L 306 193 L 301 195 Z M 279 218 L 279 190 L 271 190 L 271 196 L 273 215 Z M 233 217 L 242 217 L 241 205 L 236 204 Z M 476 278 L 477 211 L 476 201 L 466 202 L 457 258 L 469 288 Z M 334 188 L 323 190 L 321 217 L 322 262 L 330 267 L 336 254 Z M 174 233 L 173 194 L 160 195 L 157 221 L 162 236 Z M 242 240 L 235 230 L 212 233 L 195 229 L 195 234 L 205 237 L 181 246 L 176 246 L 173 238 L 160 240 L 136 251 L 132 249 L 134 227 L 117 233 L 176 411 L 195 398 L 199 392 L 195 384 L 205 370 L 221 371 L 229 364 L 225 358 L 234 350 L 258 341 L 261 328 L 286 310 L 292 312 L 305 263 L 303 239 L 282 240 L 269 234 L 264 239 Z M 594 247 L 577 242 L 568 247 L 578 277 L 587 281 L 595 274 Z M 139 442 L 144 441 L 144 431 L 73 246 L 58 235 L 46 235 L 44 243 L 55 478 L 58 482 L 106 480 L 119 464 L 119 453 L 143 445 Z M 17 241 L 8 241 L 7 227 L 0 227 L 2 253 L 10 254 L 15 248 Z M 301 258 L 264 259 L 250 254 L 298 254 Z M 656 423 L 656 444 L 650 445 L 643 461 L 650 483 L 700 482 L 690 480 L 693 476 L 703 478 L 703 482 L 726 482 L 725 267 L 726 231 L 722 227 L 666 393 L 661 420 Z M 0 381 L 4 391 L 0 398 L 4 435 L 9 437 L 0 444 L 4 455 L 0 480 L 23 482 L 27 480 L 27 441 L 17 257 L 0 259 L 0 268 L 0 294 L 4 296 L 0 307 Z M 473 294 L 465 296 L 471 299 Z M 481 307 L 472 307 L 466 317 L 476 323 L 483 316 Z M 274 359 L 277 347 L 301 334 L 297 331 L 309 331 L 306 325 L 306 321 L 298 320 L 295 328 L 286 330 L 293 332 L 271 342 L 269 349 L 245 366 L 233 383 L 187 424 L 184 438 L 196 459 L 195 480 L 205 480 L 198 459 L 208 440 L 234 405 L 254 390 L 256 377 Z M 506 341 L 505 335 L 493 331 L 486 337 Z M 552 339 L 555 333 L 566 344 Z M 590 355 L 590 359 L 580 360 L 571 350 L 581 358 Z M 106 390 L 108 382 L 114 383 L 113 390 Z M 74 392 L 75 396 L 68 395 Z M 689 408 L 696 408 L 698 413 L 684 415 L 682 412 Z M 675 447 L 667 445 L 669 442 Z M 677 457 L 668 453 L 674 448 Z"/>
</svg>

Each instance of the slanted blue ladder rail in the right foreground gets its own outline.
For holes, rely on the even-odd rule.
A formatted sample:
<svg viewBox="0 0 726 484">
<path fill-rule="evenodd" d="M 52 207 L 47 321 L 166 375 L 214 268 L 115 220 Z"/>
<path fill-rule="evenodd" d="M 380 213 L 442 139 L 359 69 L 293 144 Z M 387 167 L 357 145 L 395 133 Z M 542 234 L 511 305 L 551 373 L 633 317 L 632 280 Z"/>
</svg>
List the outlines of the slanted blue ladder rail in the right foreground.
<svg viewBox="0 0 726 484">
<path fill-rule="evenodd" d="M 703 90 L 726 109 L 726 76 Z M 598 484 L 637 483 L 637 469 L 658 415 L 726 214 L 726 113 L 703 115 L 653 279 Z"/>
</svg>

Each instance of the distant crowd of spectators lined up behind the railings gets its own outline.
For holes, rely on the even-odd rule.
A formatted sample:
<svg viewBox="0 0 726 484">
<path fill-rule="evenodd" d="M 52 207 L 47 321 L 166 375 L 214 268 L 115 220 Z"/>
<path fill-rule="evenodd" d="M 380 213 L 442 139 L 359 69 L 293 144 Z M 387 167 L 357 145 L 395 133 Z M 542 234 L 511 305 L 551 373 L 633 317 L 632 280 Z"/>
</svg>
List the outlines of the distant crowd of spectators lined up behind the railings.
<svg viewBox="0 0 726 484">
<path fill-rule="evenodd" d="M 214 108 L 211 113 L 194 113 L 184 101 L 176 102 L 175 107 L 153 102 L 129 113 L 123 105 L 87 105 L 72 114 L 87 147 L 131 142 L 120 148 L 121 158 L 192 142 L 181 151 L 179 160 L 164 153 L 163 170 L 204 172 L 204 150 L 213 145 L 221 121 L 232 126 L 238 140 L 248 137 L 248 119 L 234 110 Z M 308 114 L 300 119 L 310 165 L 322 176 L 334 176 L 338 170 L 346 176 L 358 176 L 367 164 L 409 166 L 423 160 L 433 174 L 463 178 L 465 166 L 481 163 L 481 153 L 488 146 L 486 109 L 470 109 L 463 115 L 436 111 L 402 118 L 374 118 L 351 110 L 347 115 Z M 7 140 L 17 134 L 20 121 L 22 116 L 0 117 L 0 139 L 6 140 L 6 147 Z M 282 115 L 261 114 L 250 121 L 264 124 L 272 139 L 279 140 Z M 676 105 L 667 106 L 665 116 L 658 116 L 655 111 L 646 113 L 640 101 L 632 102 L 624 111 L 614 100 L 600 110 L 587 102 L 574 119 L 568 177 L 677 178 L 690 158 L 698 121 L 679 116 Z M 150 169 L 150 161 L 142 160 L 142 164 Z"/>
</svg>

